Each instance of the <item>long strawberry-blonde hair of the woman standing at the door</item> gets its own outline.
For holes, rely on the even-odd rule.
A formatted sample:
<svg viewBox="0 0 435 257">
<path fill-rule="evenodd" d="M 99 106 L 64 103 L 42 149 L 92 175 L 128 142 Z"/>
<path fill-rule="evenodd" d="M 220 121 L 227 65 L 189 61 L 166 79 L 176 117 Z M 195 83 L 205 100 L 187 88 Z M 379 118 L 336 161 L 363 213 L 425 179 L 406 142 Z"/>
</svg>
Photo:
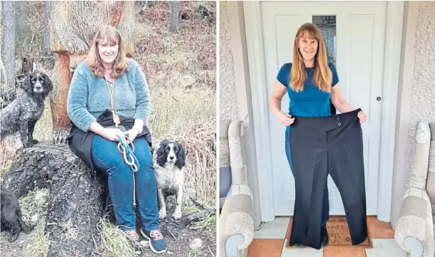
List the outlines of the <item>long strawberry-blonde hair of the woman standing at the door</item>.
<svg viewBox="0 0 435 257">
<path fill-rule="evenodd" d="M 324 47 L 322 33 L 314 23 L 304 23 L 297 30 L 295 43 L 293 44 L 293 63 L 290 75 L 290 87 L 296 92 L 304 89 L 304 83 L 307 79 L 305 73 L 305 63 L 302 53 L 299 50 L 299 39 L 302 36 L 314 38 L 317 40 L 317 53 L 314 56 L 314 85 L 317 85 L 324 92 L 331 92 L 332 72 L 327 63 L 327 53 Z"/>
</svg>

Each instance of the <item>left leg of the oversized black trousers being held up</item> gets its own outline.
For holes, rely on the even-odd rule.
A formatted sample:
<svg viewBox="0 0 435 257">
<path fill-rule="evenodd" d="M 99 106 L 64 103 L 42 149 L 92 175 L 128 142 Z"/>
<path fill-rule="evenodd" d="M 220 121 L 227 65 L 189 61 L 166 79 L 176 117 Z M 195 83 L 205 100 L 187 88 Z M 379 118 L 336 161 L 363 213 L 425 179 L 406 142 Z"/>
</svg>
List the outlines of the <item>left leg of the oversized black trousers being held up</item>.
<svg viewBox="0 0 435 257">
<path fill-rule="evenodd" d="M 305 130 L 296 123 L 290 132 L 290 148 L 296 189 L 290 246 L 302 244 L 319 249 L 327 184 L 325 135 L 322 131 Z"/>
</svg>

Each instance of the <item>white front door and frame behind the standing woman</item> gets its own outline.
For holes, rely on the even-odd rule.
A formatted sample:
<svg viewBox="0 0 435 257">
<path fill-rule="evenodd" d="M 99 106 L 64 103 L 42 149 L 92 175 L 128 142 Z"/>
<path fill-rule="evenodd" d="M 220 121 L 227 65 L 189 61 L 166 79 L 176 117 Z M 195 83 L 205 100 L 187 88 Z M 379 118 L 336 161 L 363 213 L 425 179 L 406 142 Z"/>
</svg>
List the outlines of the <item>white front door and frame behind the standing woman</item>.
<svg viewBox="0 0 435 257">
<path fill-rule="evenodd" d="M 344 99 L 369 117 L 362 126 L 367 214 L 377 214 L 387 2 L 265 1 L 261 11 L 269 96 L 281 65 L 292 62 L 293 41 L 300 25 L 314 22 L 321 29 L 328 59 L 337 67 Z M 282 111 L 287 112 L 288 106 L 285 95 Z M 285 127 L 272 112 L 269 115 L 275 215 L 289 216 L 295 204 L 295 180 L 285 156 Z M 328 187 L 329 214 L 344 215 L 340 193 L 330 176 Z"/>
</svg>

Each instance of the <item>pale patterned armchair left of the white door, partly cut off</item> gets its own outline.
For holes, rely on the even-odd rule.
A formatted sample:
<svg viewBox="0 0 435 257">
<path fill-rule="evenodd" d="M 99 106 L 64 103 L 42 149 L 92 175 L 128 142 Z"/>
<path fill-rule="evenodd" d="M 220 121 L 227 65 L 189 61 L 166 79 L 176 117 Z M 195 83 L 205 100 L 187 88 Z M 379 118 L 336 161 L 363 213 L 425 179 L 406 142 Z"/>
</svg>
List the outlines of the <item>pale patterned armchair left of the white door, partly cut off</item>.
<svg viewBox="0 0 435 257">
<path fill-rule="evenodd" d="M 220 257 L 246 257 L 254 236 L 240 120 L 220 122 Z"/>
</svg>

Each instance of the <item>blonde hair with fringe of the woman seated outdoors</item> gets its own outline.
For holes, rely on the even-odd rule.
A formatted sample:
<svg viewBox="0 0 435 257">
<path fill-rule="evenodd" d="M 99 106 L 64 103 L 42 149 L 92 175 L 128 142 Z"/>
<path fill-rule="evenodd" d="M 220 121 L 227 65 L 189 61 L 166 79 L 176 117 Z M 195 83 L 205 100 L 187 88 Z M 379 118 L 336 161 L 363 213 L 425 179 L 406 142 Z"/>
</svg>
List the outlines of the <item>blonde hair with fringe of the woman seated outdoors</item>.
<svg viewBox="0 0 435 257">
<path fill-rule="evenodd" d="M 97 77 L 104 76 L 103 64 L 98 53 L 98 44 L 103 42 L 113 45 L 118 43 L 118 56 L 116 56 L 115 63 L 113 64 L 113 78 L 119 78 L 128 68 L 128 63 L 126 62 L 126 50 L 121 33 L 113 26 L 103 26 L 93 36 L 92 46 L 86 57 L 86 63 L 88 63 Z"/>
</svg>

